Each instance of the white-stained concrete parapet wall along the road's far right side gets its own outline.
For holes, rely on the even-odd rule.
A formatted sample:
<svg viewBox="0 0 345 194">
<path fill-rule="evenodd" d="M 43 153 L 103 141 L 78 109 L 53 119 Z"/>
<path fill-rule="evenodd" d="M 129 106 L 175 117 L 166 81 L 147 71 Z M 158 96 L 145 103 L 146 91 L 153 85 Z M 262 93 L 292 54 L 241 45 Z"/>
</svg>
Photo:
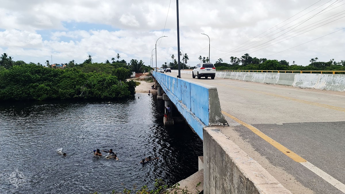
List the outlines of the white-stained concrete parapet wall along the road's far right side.
<svg viewBox="0 0 345 194">
<path fill-rule="evenodd" d="M 177 72 L 177 70 L 172 70 Z M 191 74 L 191 71 L 181 71 Z M 217 78 L 227 78 L 250 82 L 290 85 L 298 88 L 345 91 L 345 75 L 312 73 L 261 73 L 217 71 Z"/>
</svg>

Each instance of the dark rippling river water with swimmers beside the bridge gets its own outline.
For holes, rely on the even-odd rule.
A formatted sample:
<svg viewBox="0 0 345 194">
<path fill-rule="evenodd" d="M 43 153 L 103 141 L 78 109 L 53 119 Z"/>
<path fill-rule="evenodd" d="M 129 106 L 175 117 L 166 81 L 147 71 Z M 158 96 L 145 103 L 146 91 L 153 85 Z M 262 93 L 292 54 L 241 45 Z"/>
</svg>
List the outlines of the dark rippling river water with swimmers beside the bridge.
<svg viewBox="0 0 345 194">
<path fill-rule="evenodd" d="M 195 173 L 202 141 L 186 125 L 165 127 L 153 97 L 0 104 L 0 193 L 110 193 Z M 93 158 L 97 148 L 120 160 Z M 145 156 L 159 160 L 142 165 Z"/>
</svg>

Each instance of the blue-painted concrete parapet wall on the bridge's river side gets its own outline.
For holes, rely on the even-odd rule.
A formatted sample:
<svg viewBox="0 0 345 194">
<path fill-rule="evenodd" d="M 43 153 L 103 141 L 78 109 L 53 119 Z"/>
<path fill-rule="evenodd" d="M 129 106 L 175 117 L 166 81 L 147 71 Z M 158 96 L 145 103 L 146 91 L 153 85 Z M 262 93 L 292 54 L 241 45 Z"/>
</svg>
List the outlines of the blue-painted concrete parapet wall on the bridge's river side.
<svg viewBox="0 0 345 194">
<path fill-rule="evenodd" d="M 152 75 L 201 139 L 204 126 L 227 124 L 221 113 L 217 88 L 155 71 Z"/>
</svg>

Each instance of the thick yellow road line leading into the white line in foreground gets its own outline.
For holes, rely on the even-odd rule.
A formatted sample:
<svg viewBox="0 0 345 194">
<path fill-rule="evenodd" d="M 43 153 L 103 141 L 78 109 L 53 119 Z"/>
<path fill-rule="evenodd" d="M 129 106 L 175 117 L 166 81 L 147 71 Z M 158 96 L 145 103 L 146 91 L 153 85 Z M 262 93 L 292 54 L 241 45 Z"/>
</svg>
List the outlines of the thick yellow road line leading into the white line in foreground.
<svg viewBox="0 0 345 194">
<path fill-rule="evenodd" d="M 275 148 L 277 148 L 280 152 L 283 152 L 284 154 L 286 154 L 287 156 L 289 156 L 292 160 L 296 161 L 296 162 L 307 162 L 305 159 L 303 159 L 302 157 L 300 157 L 299 155 L 297 155 L 296 153 L 294 153 L 293 151 L 287 149 L 285 146 L 283 146 L 282 144 L 274 141 L 272 138 L 270 138 L 269 136 L 265 135 L 263 132 L 261 132 L 260 130 L 256 129 L 254 126 L 249 125 L 239 119 L 237 119 L 235 116 L 230 115 L 227 112 L 221 111 L 223 114 L 225 114 L 226 116 L 228 116 L 229 118 L 233 119 L 234 121 L 236 121 L 237 123 L 247 127 L 248 129 L 250 129 L 251 131 L 253 131 L 255 134 L 257 134 L 259 137 L 261 137 L 262 139 L 264 139 L 265 141 L 267 141 L 269 144 L 273 145 Z"/>
</svg>

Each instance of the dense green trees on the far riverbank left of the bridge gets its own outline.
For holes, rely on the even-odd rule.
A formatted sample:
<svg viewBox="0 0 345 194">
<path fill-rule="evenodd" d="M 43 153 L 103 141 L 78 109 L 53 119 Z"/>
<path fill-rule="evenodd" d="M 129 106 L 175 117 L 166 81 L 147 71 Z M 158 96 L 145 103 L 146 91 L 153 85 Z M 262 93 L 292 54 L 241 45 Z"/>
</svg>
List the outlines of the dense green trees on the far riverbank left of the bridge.
<svg viewBox="0 0 345 194">
<path fill-rule="evenodd" d="M 60 69 L 49 60 L 44 66 L 13 61 L 6 53 L 2 54 L 0 101 L 127 98 L 135 94 L 136 83 L 127 81 L 132 71 L 151 70 L 142 60 L 127 63 L 113 58 L 111 63 L 93 63 L 91 55 L 81 64 L 72 60 L 65 65 Z"/>
</svg>

